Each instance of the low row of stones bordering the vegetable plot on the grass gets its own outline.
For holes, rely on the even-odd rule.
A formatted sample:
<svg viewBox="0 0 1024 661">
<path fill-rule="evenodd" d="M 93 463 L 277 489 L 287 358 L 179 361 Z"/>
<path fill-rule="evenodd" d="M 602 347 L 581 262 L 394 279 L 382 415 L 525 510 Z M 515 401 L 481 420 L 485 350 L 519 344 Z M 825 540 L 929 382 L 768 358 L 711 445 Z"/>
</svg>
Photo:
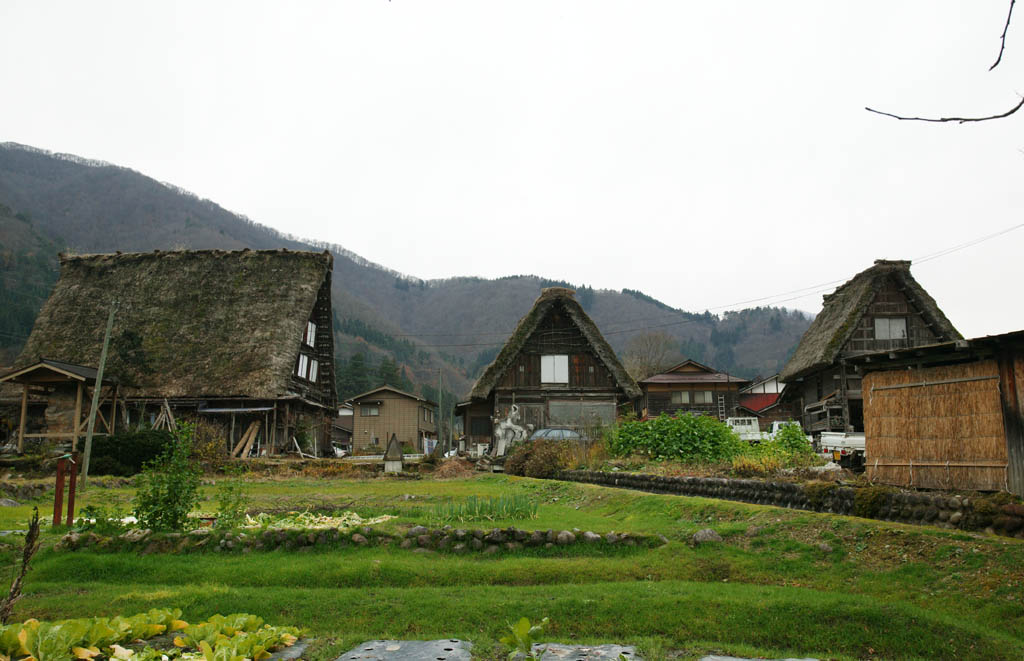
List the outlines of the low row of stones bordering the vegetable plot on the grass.
<svg viewBox="0 0 1024 661">
<path fill-rule="evenodd" d="M 134 550 L 141 554 L 169 553 L 244 553 L 254 550 L 309 552 L 316 547 L 394 546 L 414 553 L 449 552 L 496 554 L 517 552 L 526 547 L 554 548 L 573 544 L 599 546 L 653 546 L 667 542 L 660 536 L 609 532 L 599 535 L 591 531 L 519 530 L 493 528 L 463 529 L 444 526 L 415 526 L 404 535 L 380 532 L 370 527 L 355 530 L 253 530 L 218 531 L 200 528 L 187 533 L 152 532 L 132 529 L 120 535 L 104 536 L 95 532 L 69 532 L 56 544 L 57 550 Z"/>
</svg>

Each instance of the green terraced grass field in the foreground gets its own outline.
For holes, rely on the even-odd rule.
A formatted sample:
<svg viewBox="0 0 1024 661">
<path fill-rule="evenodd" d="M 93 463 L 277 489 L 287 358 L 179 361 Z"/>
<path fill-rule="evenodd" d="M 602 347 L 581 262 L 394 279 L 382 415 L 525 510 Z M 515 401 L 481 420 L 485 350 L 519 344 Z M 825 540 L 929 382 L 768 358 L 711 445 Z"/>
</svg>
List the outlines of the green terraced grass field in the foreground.
<svg viewBox="0 0 1024 661">
<path fill-rule="evenodd" d="M 187 618 L 247 611 L 307 627 L 312 659 L 371 638 L 456 636 L 499 658 L 521 616 L 548 640 L 635 644 L 647 658 L 709 652 L 836 659 L 1024 658 L 1024 543 L 936 528 L 590 485 L 478 476 L 459 480 L 293 478 L 247 483 L 261 511 L 392 514 L 401 530 L 471 495 L 523 494 L 537 519 L 467 527 L 663 534 L 657 548 L 572 546 L 496 556 L 389 547 L 248 555 L 138 556 L 44 548 L 18 618 L 179 607 Z M 204 487 L 208 498 L 214 488 Z M 128 508 L 130 489 L 83 504 Z M 51 505 L 39 503 L 41 510 Z M 212 500 L 202 504 L 213 510 Z M 24 528 L 31 506 L 0 509 Z M 722 544 L 691 547 L 700 528 Z M 57 531 L 46 535 L 51 543 Z M 0 537 L 0 539 L 7 539 Z M 7 559 L 12 552 L 5 552 Z"/>
</svg>

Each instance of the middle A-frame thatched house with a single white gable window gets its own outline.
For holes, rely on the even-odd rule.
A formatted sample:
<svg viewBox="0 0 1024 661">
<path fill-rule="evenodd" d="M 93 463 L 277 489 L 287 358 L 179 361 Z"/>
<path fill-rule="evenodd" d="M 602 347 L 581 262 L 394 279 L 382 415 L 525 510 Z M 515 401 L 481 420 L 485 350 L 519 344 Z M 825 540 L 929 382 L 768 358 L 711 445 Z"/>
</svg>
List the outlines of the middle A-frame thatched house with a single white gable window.
<svg viewBox="0 0 1024 661">
<path fill-rule="evenodd" d="M 620 404 L 640 397 L 573 294 L 543 290 L 468 401 L 457 406 L 468 444 L 520 440 L 546 427 L 587 432 L 612 423 Z"/>
</svg>

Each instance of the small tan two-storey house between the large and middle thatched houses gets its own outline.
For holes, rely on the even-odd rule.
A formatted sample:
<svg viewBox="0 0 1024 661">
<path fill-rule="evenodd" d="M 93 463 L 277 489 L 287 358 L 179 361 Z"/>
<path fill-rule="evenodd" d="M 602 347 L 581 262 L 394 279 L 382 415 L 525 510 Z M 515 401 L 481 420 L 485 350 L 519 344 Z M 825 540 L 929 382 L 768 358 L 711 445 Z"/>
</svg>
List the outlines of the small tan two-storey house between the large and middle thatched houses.
<svg viewBox="0 0 1024 661">
<path fill-rule="evenodd" d="M 423 452 L 424 438 L 437 438 L 437 403 L 381 386 L 349 400 L 352 405 L 352 451 L 381 454 L 391 437 Z"/>
</svg>

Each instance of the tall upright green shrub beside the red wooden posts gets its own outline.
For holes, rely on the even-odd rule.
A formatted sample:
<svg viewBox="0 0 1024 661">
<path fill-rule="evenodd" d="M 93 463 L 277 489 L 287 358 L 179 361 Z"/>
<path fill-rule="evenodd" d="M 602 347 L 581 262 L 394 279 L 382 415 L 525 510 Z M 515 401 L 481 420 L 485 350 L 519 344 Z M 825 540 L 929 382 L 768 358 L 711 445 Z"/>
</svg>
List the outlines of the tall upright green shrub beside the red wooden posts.
<svg viewBox="0 0 1024 661">
<path fill-rule="evenodd" d="M 199 501 L 200 470 L 191 458 L 193 427 L 178 423 L 163 454 L 146 462 L 137 478 L 132 509 L 144 528 L 181 530 Z"/>
</svg>

